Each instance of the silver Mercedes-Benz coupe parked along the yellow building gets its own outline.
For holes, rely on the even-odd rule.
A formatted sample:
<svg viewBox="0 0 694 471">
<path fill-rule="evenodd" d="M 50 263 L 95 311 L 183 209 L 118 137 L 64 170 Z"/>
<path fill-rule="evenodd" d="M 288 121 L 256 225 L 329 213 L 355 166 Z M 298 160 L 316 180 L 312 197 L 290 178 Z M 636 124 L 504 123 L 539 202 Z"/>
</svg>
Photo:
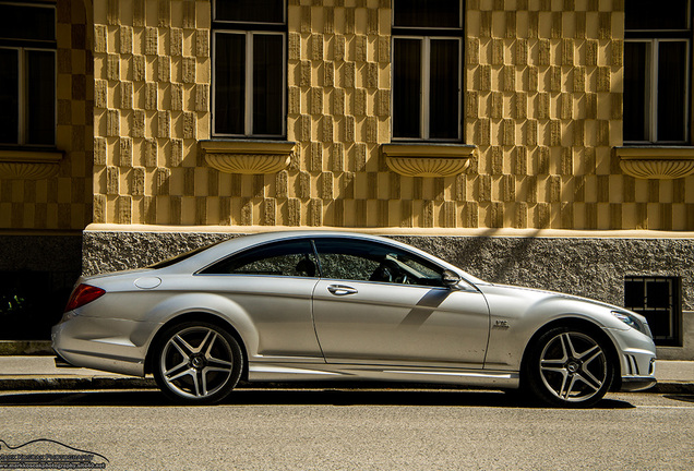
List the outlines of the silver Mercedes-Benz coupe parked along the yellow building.
<svg viewBox="0 0 694 471">
<path fill-rule="evenodd" d="M 52 342 L 72 365 L 151 373 L 189 403 L 218 402 L 240 379 L 519 388 L 560 407 L 656 383 L 636 313 L 482 281 L 395 240 L 345 232 L 239 237 L 82 277 Z"/>
</svg>

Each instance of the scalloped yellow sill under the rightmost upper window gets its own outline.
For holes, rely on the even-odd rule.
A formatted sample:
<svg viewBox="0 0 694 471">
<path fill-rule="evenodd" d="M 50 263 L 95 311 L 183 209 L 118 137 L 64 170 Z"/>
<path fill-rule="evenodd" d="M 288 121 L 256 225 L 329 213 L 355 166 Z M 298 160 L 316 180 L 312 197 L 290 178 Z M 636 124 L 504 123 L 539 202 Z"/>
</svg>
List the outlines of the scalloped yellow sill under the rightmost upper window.
<svg viewBox="0 0 694 471">
<path fill-rule="evenodd" d="M 620 167 L 638 179 L 671 180 L 694 173 L 694 147 L 622 146 L 614 147 Z"/>
</svg>

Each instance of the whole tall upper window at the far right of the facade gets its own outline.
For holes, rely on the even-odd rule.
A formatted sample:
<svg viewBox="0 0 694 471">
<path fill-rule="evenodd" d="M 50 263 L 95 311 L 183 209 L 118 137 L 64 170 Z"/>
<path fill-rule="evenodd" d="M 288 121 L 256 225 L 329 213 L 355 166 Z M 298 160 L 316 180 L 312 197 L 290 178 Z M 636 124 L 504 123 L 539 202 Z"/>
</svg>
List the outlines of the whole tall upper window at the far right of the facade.
<svg viewBox="0 0 694 471">
<path fill-rule="evenodd" d="M 691 0 L 629 0 L 624 9 L 624 142 L 684 144 L 690 132 Z"/>
</svg>

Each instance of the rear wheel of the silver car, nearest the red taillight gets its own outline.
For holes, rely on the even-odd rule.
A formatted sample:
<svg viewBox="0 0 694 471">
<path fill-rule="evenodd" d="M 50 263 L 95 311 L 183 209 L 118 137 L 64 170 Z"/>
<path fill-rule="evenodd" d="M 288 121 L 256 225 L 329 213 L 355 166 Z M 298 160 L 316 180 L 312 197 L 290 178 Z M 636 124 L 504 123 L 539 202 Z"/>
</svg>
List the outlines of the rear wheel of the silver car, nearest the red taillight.
<svg viewBox="0 0 694 471">
<path fill-rule="evenodd" d="M 243 354 L 239 343 L 214 324 L 188 322 L 172 326 L 155 348 L 154 378 L 176 402 L 219 402 L 241 376 Z"/>
</svg>

